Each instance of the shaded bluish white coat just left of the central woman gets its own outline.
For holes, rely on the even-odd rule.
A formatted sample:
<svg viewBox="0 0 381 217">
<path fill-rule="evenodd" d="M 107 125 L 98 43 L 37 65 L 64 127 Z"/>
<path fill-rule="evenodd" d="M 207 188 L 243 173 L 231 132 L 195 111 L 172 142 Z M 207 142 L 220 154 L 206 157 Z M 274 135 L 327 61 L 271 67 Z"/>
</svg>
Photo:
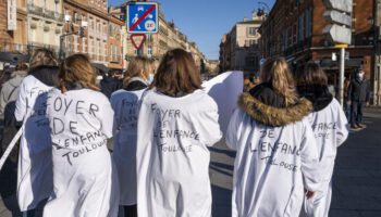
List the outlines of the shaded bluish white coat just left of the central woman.
<svg viewBox="0 0 381 217">
<path fill-rule="evenodd" d="M 119 175 L 120 205 L 135 205 L 136 184 L 136 139 L 138 105 L 144 90 L 118 90 L 111 95 L 114 110 L 113 158 Z"/>
</svg>

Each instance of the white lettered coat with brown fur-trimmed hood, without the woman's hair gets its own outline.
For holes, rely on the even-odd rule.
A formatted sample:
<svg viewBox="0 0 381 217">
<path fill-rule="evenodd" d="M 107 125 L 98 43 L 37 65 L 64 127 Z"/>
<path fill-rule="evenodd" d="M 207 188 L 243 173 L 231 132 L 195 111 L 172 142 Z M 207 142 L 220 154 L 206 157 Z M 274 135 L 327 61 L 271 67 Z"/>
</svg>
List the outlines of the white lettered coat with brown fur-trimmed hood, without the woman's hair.
<svg viewBox="0 0 381 217">
<path fill-rule="evenodd" d="M 260 102 L 245 104 L 251 114 L 260 111 L 255 118 L 275 123 L 278 117 L 286 116 L 292 120 L 284 126 L 271 127 L 260 124 L 242 108 L 234 112 L 226 131 L 228 146 L 236 150 L 232 216 L 298 216 L 304 190 L 319 188 L 316 141 L 308 119 L 304 117 L 308 113 L 295 112 L 293 115 L 282 108 L 258 104 Z"/>
</svg>

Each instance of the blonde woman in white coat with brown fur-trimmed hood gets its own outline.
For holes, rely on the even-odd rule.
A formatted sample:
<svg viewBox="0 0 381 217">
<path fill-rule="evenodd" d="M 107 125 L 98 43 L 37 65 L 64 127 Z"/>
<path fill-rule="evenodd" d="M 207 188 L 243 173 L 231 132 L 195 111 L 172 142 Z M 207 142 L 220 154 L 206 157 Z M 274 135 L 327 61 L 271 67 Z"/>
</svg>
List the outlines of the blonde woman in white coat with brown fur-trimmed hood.
<svg viewBox="0 0 381 217">
<path fill-rule="evenodd" d="M 269 59 L 260 85 L 243 93 L 226 144 L 236 151 L 232 216 L 298 216 L 305 190 L 319 187 L 318 152 L 307 115 L 284 59 Z"/>
</svg>

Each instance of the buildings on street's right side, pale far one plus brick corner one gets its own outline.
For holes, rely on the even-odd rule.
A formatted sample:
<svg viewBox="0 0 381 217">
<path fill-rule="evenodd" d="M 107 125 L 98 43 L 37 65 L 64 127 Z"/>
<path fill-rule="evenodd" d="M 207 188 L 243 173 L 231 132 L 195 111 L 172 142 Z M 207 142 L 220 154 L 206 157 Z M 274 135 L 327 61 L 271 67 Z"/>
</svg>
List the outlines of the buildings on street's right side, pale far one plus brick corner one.
<svg viewBox="0 0 381 217">
<path fill-rule="evenodd" d="M 323 0 L 276 0 L 269 13 L 262 15 L 260 24 L 256 25 L 259 39 L 255 47 L 249 48 L 249 53 L 259 60 L 284 56 L 293 68 L 315 61 L 325 69 L 329 82 L 339 86 L 340 64 L 339 60 L 332 58 L 332 53 L 340 56 L 340 50 L 323 35 L 323 28 L 329 24 L 323 17 L 325 11 Z M 237 23 L 230 34 L 223 36 L 220 49 L 220 67 L 223 69 L 239 67 L 235 64 L 234 53 L 242 50 L 242 41 L 229 41 L 226 38 L 235 38 L 234 29 L 242 23 Z M 247 30 L 250 28 L 249 24 L 244 24 L 247 26 L 246 33 L 250 33 Z M 357 68 L 365 69 L 371 81 L 371 101 L 374 105 L 381 104 L 380 25 L 380 0 L 353 0 L 353 40 L 346 49 L 345 74 L 351 76 Z M 238 47 L 234 49 L 235 46 Z M 249 56 L 246 55 L 247 61 L 243 69 L 258 72 L 257 62 L 256 67 L 248 67 L 251 60 Z"/>
</svg>

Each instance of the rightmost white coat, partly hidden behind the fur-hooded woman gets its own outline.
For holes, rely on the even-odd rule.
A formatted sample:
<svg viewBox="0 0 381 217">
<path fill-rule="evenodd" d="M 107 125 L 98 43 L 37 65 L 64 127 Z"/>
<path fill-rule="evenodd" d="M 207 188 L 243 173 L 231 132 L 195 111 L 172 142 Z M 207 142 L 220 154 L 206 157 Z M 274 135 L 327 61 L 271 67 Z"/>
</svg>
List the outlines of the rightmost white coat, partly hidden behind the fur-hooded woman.
<svg viewBox="0 0 381 217">
<path fill-rule="evenodd" d="M 337 148 L 348 137 L 347 119 L 336 99 L 323 110 L 311 113 L 308 119 L 317 140 L 322 184 L 312 199 L 305 199 L 304 215 L 327 217 L 331 205 L 334 159 Z"/>
</svg>

